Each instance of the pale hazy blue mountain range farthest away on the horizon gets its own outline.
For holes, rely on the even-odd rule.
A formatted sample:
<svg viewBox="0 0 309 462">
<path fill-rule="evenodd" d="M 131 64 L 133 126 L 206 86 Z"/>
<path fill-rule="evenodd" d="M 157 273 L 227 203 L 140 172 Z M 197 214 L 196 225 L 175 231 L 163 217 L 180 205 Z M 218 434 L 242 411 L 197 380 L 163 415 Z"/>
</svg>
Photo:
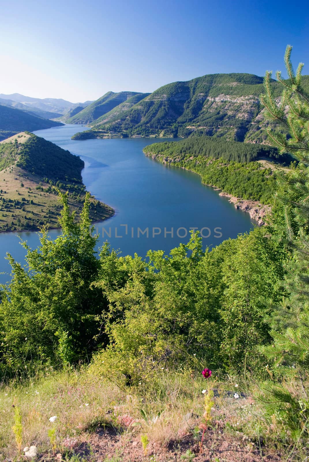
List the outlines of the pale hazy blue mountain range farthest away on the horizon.
<svg viewBox="0 0 309 462">
<path fill-rule="evenodd" d="M 0 98 L 6 100 L 9 99 L 16 103 L 22 103 L 25 106 L 30 107 L 32 110 L 40 109 L 42 111 L 55 112 L 57 113 L 55 117 L 58 117 L 61 114 L 65 114 L 68 110 L 74 108 L 77 105 L 85 108 L 89 103 L 91 103 L 89 101 L 86 101 L 85 103 L 71 103 L 65 99 L 58 98 L 32 98 L 29 96 L 21 95 L 19 93 L 12 93 L 12 95 L 5 95 L 0 93 Z"/>
</svg>

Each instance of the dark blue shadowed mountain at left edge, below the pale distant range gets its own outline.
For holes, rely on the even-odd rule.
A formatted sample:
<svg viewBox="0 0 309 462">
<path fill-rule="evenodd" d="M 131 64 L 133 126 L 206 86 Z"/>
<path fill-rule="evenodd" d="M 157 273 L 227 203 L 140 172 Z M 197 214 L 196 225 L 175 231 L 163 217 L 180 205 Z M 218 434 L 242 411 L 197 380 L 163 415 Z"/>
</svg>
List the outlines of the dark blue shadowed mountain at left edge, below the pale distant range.
<svg viewBox="0 0 309 462">
<path fill-rule="evenodd" d="M 63 125 L 63 123 L 42 119 L 41 117 L 32 116 L 25 111 L 0 105 L 0 140 L 4 140 L 24 130 L 33 132 L 59 125 Z"/>
</svg>

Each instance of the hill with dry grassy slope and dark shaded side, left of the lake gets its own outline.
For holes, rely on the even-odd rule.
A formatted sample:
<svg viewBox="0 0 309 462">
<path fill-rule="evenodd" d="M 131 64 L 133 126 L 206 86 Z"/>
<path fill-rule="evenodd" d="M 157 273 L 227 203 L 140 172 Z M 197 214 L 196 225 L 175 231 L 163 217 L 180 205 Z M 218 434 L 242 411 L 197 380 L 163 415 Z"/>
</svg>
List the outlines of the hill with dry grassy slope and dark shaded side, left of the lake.
<svg viewBox="0 0 309 462">
<path fill-rule="evenodd" d="M 59 226 L 61 206 L 56 188 L 68 192 L 77 219 L 86 194 L 84 161 L 50 141 L 21 132 L 0 142 L 0 231 Z M 113 209 L 91 197 L 91 220 L 103 220 Z"/>
</svg>

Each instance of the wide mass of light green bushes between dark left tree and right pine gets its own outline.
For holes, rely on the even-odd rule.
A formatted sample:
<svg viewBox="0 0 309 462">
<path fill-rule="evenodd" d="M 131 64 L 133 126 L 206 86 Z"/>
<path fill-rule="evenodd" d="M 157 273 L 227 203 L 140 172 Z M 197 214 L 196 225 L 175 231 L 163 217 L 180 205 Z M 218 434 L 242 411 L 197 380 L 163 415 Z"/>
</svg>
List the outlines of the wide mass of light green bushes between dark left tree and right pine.
<svg viewBox="0 0 309 462">
<path fill-rule="evenodd" d="M 266 300 L 280 298 L 279 244 L 257 228 L 211 252 L 193 234 L 169 256 L 147 255 L 146 263 L 106 248 L 101 254 L 95 285 L 109 301 L 109 346 L 94 359 L 97 372 L 123 386 L 155 381 L 166 368 L 242 369 L 246 356 L 254 368 L 257 343 L 269 341 Z"/>
</svg>

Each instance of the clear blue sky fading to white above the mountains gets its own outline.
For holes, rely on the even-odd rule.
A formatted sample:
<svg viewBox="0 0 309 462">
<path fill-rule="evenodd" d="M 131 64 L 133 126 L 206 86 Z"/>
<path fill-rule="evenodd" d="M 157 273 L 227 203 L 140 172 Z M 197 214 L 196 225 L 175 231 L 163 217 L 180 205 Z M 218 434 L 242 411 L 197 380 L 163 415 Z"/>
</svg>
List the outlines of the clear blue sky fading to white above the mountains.
<svg viewBox="0 0 309 462">
<path fill-rule="evenodd" d="M 309 73 L 309 6 L 277 0 L 2 0 L 0 93 L 73 103 L 209 73 Z"/>
</svg>

